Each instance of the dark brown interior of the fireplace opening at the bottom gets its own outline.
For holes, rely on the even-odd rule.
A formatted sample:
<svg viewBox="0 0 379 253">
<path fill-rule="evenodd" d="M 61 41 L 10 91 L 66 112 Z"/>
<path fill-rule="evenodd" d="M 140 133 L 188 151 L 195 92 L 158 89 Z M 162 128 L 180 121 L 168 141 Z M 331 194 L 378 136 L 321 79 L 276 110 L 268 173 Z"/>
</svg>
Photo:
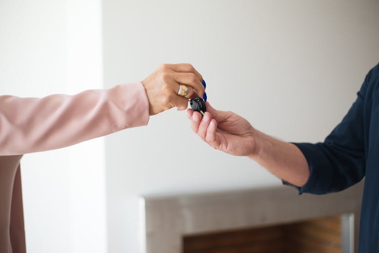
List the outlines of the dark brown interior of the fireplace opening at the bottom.
<svg viewBox="0 0 379 253">
<path fill-rule="evenodd" d="M 183 253 L 263 252 L 341 252 L 341 217 L 183 238 Z"/>
</svg>

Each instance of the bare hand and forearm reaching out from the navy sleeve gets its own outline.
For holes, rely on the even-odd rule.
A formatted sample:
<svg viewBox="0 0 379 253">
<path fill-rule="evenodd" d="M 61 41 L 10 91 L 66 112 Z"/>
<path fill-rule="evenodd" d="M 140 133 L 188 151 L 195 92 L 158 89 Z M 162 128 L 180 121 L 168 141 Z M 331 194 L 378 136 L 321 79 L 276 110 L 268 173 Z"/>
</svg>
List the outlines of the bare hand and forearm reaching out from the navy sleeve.
<svg viewBox="0 0 379 253">
<path fill-rule="evenodd" d="M 300 149 L 256 130 L 246 119 L 218 111 L 208 102 L 204 117 L 187 110 L 192 130 L 213 148 L 233 156 L 246 156 L 277 177 L 296 186 L 309 178 L 307 161 Z"/>
</svg>

